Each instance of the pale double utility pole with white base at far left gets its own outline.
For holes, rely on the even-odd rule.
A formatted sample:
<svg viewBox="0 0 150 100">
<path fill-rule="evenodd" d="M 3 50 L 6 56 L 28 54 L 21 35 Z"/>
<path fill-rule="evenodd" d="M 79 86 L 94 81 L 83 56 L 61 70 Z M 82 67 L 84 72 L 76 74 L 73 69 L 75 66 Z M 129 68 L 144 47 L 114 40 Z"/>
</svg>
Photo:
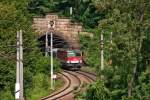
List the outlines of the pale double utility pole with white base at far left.
<svg viewBox="0 0 150 100">
<path fill-rule="evenodd" d="M 17 31 L 17 62 L 16 62 L 16 100 L 24 100 L 23 97 L 23 47 L 22 47 L 22 30 Z"/>
</svg>

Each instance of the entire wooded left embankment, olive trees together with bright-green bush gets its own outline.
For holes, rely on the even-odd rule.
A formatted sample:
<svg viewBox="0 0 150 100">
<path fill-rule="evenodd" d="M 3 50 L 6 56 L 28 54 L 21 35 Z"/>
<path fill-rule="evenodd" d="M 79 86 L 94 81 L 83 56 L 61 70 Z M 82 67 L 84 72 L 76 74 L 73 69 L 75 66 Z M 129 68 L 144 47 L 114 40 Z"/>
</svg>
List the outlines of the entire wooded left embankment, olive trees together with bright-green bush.
<svg viewBox="0 0 150 100">
<path fill-rule="evenodd" d="M 15 99 L 16 32 L 23 30 L 24 97 L 37 100 L 50 92 L 50 65 L 38 48 L 32 30 L 32 15 L 28 11 L 30 0 L 0 1 L 0 99 Z M 60 71 L 55 61 L 54 70 Z M 61 81 L 57 81 L 60 86 Z"/>
</svg>

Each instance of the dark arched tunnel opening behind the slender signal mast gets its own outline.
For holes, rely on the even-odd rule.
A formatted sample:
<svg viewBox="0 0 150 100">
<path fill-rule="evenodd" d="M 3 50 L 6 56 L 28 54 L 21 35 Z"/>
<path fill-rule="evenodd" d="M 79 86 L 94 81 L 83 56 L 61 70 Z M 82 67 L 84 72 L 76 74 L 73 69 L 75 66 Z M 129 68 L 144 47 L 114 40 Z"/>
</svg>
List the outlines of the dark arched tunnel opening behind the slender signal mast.
<svg viewBox="0 0 150 100">
<path fill-rule="evenodd" d="M 48 46 L 50 46 L 51 42 L 51 36 L 48 34 Z M 44 54 L 46 51 L 45 45 L 46 45 L 46 35 L 41 36 L 39 39 L 39 48 L 41 48 L 42 53 Z M 62 37 L 53 34 L 53 49 L 59 49 L 59 48 L 69 48 L 69 44 L 63 39 Z"/>
</svg>

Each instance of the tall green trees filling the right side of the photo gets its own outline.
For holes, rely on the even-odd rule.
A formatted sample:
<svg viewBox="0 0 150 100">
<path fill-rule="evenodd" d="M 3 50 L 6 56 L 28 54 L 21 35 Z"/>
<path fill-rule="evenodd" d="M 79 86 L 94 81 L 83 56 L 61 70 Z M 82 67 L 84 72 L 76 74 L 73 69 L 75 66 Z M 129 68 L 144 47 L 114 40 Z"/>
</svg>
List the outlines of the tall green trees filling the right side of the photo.
<svg viewBox="0 0 150 100">
<path fill-rule="evenodd" d="M 105 12 L 105 18 L 99 21 L 98 26 L 99 31 L 104 32 L 105 38 L 105 70 L 100 71 L 98 67 L 97 71 L 104 75 L 104 87 L 111 91 L 110 99 L 148 100 L 149 74 L 146 73 L 149 70 L 147 59 L 150 58 L 149 46 L 147 46 L 149 43 L 149 2 L 147 0 L 93 0 L 93 2 L 98 11 Z M 110 32 L 113 32 L 111 51 L 109 49 Z M 93 41 L 97 39 L 94 38 Z M 82 48 L 85 47 L 87 50 L 93 48 L 94 45 L 91 45 L 93 41 L 86 41 L 86 45 L 83 42 Z M 99 55 L 97 51 L 93 52 Z M 93 59 L 91 61 L 95 62 Z M 109 59 L 112 59 L 111 66 L 108 65 Z M 101 90 L 99 84 L 93 84 L 93 87 L 97 87 L 95 91 Z M 129 94 L 130 90 L 131 94 Z M 93 93 L 87 92 L 86 97 L 88 98 L 89 95 Z M 100 95 L 96 97 L 101 98 Z"/>
</svg>

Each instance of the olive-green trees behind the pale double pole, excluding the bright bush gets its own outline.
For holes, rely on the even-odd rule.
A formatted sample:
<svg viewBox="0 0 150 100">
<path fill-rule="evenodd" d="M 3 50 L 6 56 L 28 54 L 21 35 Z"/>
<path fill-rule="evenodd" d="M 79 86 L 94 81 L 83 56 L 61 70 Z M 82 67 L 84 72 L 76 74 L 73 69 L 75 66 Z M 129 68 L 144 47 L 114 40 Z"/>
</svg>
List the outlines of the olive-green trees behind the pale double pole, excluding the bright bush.
<svg viewBox="0 0 150 100">
<path fill-rule="evenodd" d="M 48 61 L 37 48 L 38 42 L 31 27 L 27 4 L 28 0 L 0 2 L 0 93 L 9 95 L 8 98 L 14 95 L 17 30 L 23 30 L 25 90 L 32 87 L 32 77 L 36 73 L 44 73 L 47 77 L 49 73 Z M 2 97 L 0 99 L 7 100 Z"/>
</svg>

